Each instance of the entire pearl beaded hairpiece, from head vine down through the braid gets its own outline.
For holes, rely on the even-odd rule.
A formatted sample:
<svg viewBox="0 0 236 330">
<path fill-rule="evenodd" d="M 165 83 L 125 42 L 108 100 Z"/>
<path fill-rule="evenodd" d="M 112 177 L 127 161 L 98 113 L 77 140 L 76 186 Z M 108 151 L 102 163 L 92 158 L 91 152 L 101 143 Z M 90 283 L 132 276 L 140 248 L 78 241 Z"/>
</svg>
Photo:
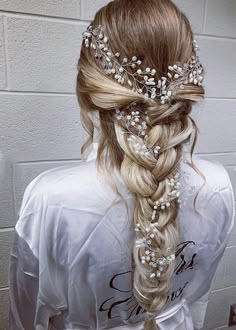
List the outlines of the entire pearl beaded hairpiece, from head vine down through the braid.
<svg viewBox="0 0 236 330">
<path fill-rule="evenodd" d="M 170 65 L 167 77 L 161 77 L 161 79 L 156 81 L 154 78 L 156 74 L 155 69 L 150 69 L 149 67 L 145 70 L 137 69 L 142 64 L 142 61 L 137 56 L 133 56 L 129 61 L 126 57 L 121 60 L 120 53 L 113 54 L 109 48 L 108 38 L 104 34 L 102 25 L 96 28 L 93 28 L 92 25 L 88 26 L 83 33 L 83 39 L 85 46 L 94 50 L 95 57 L 99 60 L 107 75 L 114 75 L 118 83 L 130 87 L 134 92 L 143 93 L 145 98 L 160 99 L 161 104 L 165 104 L 166 101 L 170 101 L 173 98 L 178 88 L 183 89 L 186 84 L 202 85 L 203 68 L 197 55 L 193 55 L 187 63 Z M 195 40 L 193 49 L 195 52 L 198 50 Z M 127 70 L 127 67 L 135 72 L 131 73 Z M 134 102 L 125 111 L 116 109 L 115 117 L 117 120 L 123 121 L 126 126 L 130 134 L 127 140 L 128 143 L 133 144 L 135 153 L 141 157 L 151 154 L 158 159 L 161 148 L 148 145 L 148 135 L 146 134 L 147 121 L 143 119 L 143 113 L 140 113 L 137 107 L 135 111 L 133 110 L 133 105 L 136 107 L 137 104 Z M 145 115 L 147 118 L 147 112 L 145 112 Z M 158 213 L 169 208 L 171 202 L 175 200 L 181 208 L 180 179 L 181 175 L 178 171 L 172 177 L 167 178 L 169 186 L 168 198 L 167 200 L 160 198 L 160 200 L 154 202 L 150 225 L 144 228 L 145 235 L 142 232 L 142 237 L 136 240 L 135 248 L 145 248 L 145 252 L 141 256 L 141 263 L 151 266 L 150 278 L 160 277 L 161 272 L 175 260 L 175 251 L 171 251 L 170 248 L 166 250 L 165 255 L 158 256 L 155 248 L 152 247 L 152 239 L 158 232 L 159 224 L 156 221 Z M 192 192 L 190 191 L 190 194 Z M 136 224 L 135 232 L 141 232 L 140 223 Z"/>
</svg>

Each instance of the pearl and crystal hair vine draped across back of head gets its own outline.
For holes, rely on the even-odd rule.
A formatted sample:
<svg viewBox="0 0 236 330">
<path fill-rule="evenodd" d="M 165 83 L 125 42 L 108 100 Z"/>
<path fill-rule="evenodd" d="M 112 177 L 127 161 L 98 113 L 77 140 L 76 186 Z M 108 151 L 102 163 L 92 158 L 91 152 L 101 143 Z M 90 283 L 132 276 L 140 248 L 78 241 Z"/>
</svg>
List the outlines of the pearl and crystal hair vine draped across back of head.
<svg viewBox="0 0 236 330">
<path fill-rule="evenodd" d="M 165 104 L 179 88 L 184 89 L 184 85 L 202 85 L 203 67 L 197 55 L 192 55 L 187 63 L 169 65 L 167 77 L 155 80 L 156 70 L 149 67 L 144 70 L 138 68 L 142 61 L 137 56 L 133 56 L 131 60 L 127 57 L 121 59 L 120 53 L 112 52 L 102 25 L 96 28 L 89 25 L 83 32 L 83 39 L 86 48 L 91 47 L 94 50 L 95 58 L 100 61 L 107 75 L 112 75 L 118 83 L 126 85 L 134 92 L 143 93 L 145 98 L 159 99 L 161 104 Z M 193 42 L 193 50 L 199 50 L 196 40 Z"/>
</svg>

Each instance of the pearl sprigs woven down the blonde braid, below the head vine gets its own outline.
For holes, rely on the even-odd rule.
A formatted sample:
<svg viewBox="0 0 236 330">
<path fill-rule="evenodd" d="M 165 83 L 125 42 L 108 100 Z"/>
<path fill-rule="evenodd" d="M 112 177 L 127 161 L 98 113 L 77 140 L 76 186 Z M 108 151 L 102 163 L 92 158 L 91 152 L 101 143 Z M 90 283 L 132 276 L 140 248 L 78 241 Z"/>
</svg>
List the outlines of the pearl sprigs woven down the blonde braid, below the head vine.
<svg viewBox="0 0 236 330">
<path fill-rule="evenodd" d="M 135 153 L 144 157 L 152 153 L 152 155 L 156 157 L 159 155 L 160 147 L 159 146 L 150 147 L 147 145 L 147 140 L 146 140 L 148 137 L 148 135 L 146 134 L 147 122 L 146 120 L 142 120 L 139 111 L 133 110 L 133 106 L 136 107 L 137 103 L 136 102 L 132 103 L 126 109 L 126 111 L 124 110 L 121 111 L 120 109 L 116 109 L 115 117 L 117 120 L 121 120 L 124 122 L 128 134 L 130 135 L 128 137 L 128 141 L 130 143 L 133 143 Z M 147 118 L 147 112 L 145 112 L 145 115 Z M 133 129 L 135 129 L 135 132 L 133 132 Z M 186 160 L 184 160 L 184 162 L 186 162 Z M 145 228 L 145 232 L 146 232 L 145 237 L 136 240 L 136 246 L 135 246 L 136 248 L 145 247 L 144 255 L 141 256 L 141 263 L 148 264 L 149 266 L 152 267 L 152 271 L 150 273 L 151 278 L 155 276 L 160 277 L 161 272 L 164 271 L 165 267 L 167 267 L 168 264 L 170 264 L 173 260 L 175 260 L 175 253 L 174 252 L 170 253 L 170 249 L 167 249 L 166 255 L 158 257 L 157 254 L 155 253 L 155 250 L 152 248 L 152 239 L 155 238 L 155 234 L 158 232 L 159 224 L 158 221 L 156 221 L 156 218 L 159 212 L 162 212 L 166 208 L 171 207 L 171 202 L 176 199 L 177 202 L 179 203 L 179 206 L 181 207 L 181 200 L 179 198 L 180 178 L 181 175 L 177 171 L 173 177 L 166 179 L 167 185 L 169 186 L 169 192 L 167 194 L 168 199 L 164 200 L 163 198 L 160 198 L 160 200 L 155 201 L 150 225 L 148 225 Z M 135 232 L 140 232 L 141 231 L 140 227 L 141 224 L 138 223 L 135 227 Z"/>
</svg>

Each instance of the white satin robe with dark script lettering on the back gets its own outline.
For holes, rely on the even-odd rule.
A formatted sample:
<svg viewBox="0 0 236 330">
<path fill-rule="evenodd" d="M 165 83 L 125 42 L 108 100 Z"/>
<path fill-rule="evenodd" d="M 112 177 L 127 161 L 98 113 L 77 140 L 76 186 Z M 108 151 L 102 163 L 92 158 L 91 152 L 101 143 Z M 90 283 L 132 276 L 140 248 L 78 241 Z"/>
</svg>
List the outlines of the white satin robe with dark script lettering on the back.
<svg viewBox="0 0 236 330">
<path fill-rule="evenodd" d="M 143 329 L 144 310 L 131 281 L 133 196 L 114 172 L 128 203 L 126 216 L 124 202 L 98 176 L 97 147 L 94 142 L 87 161 L 47 170 L 25 190 L 10 259 L 11 330 Z M 189 150 L 187 145 L 186 157 Z M 207 183 L 197 198 L 200 214 L 195 213 L 189 187 L 198 191 L 203 181 L 182 164 L 187 188 L 181 188 L 181 243 L 168 304 L 156 318 L 161 330 L 202 328 L 234 223 L 225 168 L 197 155 L 194 162 Z"/>
</svg>

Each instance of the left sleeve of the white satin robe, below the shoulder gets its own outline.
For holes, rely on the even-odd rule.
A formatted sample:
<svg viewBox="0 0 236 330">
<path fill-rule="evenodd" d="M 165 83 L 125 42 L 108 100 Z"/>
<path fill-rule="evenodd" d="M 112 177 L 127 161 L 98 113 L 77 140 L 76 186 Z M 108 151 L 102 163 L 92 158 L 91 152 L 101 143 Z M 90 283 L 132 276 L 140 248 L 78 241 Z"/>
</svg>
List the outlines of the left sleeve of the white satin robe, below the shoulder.
<svg viewBox="0 0 236 330">
<path fill-rule="evenodd" d="M 47 329 L 50 317 L 67 308 L 66 271 L 56 261 L 60 212 L 42 204 L 18 219 L 9 268 L 10 330 Z"/>
</svg>

